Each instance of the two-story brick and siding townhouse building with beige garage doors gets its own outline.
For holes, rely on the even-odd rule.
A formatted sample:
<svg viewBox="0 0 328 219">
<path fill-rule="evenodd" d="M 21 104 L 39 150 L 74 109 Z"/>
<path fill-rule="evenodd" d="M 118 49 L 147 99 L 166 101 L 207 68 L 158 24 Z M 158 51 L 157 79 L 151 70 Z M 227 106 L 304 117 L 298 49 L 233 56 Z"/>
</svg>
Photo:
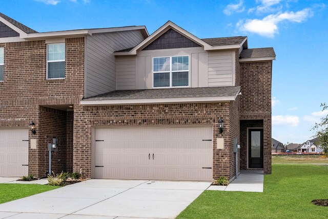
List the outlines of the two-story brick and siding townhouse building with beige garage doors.
<svg viewBox="0 0 328 219">
<path fill-rule="evenodd" d="M 38 33 L 0 14 L 0 175 L 271 173 L 273 48 L 172 22 Z M 234 141 L 237 144 L 234 144 Z M 56 147 L 55 147 L 56 146 Z"/>
</svg>

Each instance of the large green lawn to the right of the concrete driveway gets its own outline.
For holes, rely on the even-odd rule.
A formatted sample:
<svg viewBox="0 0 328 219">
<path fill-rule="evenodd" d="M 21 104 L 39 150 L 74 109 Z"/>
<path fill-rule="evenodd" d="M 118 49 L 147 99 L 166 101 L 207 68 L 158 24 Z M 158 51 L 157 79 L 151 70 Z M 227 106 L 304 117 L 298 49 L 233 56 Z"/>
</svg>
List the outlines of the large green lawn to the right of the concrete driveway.
<svg viewBox="0 0 328 219">
<path fill-rule="evenodd" d="M 273 165 L 264 192 L 204 191 L 177 218 L 327 218 L 328 165 Z"/>
</svg>

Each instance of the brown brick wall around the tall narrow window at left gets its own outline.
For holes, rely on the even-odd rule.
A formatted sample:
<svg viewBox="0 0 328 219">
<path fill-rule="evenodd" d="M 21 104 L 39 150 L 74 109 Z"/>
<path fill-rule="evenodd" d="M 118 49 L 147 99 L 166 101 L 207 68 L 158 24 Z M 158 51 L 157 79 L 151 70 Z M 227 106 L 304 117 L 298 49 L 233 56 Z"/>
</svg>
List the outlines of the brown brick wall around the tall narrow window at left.
<svg viewBox="0 0 328 219">
<path fill-rule="evenodd" d="M 29 173 L 35 176 L 44 176 L 48 168 L 44 142 L 38 139 L 42 137 L 39 106 L 79 104 L 84 94 L 84 45 L 84 37 L 66 39 L 66 78 L 47 80 L 45 41 L 0 44 L 5 47 L 0 127 L 28 128 L 31 121 L 35 123 L 36 134 L 29 132 L 29 138 L 37 140 L 37 149 L 29 146 Z"/>
</svg>

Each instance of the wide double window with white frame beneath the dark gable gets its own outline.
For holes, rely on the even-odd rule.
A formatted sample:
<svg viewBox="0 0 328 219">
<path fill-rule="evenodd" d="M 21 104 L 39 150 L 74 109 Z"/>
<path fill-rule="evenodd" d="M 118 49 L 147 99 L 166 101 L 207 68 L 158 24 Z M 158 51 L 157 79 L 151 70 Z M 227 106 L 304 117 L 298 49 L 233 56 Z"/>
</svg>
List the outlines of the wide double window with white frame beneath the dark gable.
<svg viewBox="0 0 328 219">
<path fill-rule="evenodd" d="M 153 58 L 153 87 L 188 87 L 189 56 Z"/>
</svg>

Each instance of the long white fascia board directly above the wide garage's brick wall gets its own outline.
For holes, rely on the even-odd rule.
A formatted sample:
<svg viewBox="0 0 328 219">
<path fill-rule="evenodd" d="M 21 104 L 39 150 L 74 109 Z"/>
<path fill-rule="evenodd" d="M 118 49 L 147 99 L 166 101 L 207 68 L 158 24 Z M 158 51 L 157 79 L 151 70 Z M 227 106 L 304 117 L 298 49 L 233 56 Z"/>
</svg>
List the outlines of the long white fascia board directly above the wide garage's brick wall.
<svg viewBox="0 0 328 219">
<path fill-rule="evenodd" d="M 154 99 L 111 99 L 101 101 L 80 101 L 80 105 L 101 106 L 101 105 L 121 105 L 121 104 L 165 104 L 165 103 L 211 103 L 235 101 L 235 96 L 219 97 L 180 97 L 180 98 L 154 98 Z"/>
</svg>

